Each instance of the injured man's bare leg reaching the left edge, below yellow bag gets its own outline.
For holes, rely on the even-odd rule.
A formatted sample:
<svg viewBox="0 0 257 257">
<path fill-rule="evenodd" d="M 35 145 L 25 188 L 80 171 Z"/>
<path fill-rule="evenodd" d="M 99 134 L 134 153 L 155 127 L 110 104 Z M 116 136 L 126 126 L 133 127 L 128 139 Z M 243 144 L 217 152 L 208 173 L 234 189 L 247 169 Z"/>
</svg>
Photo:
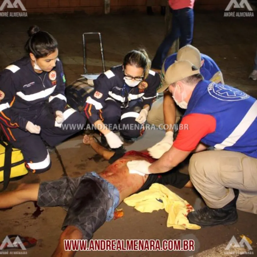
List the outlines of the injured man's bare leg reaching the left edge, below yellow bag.
<svg viewBox="0 0 257 257">
<path fill-rule="evenodd" d="M 28 201 L 37 201 L 39 183 L 37 184 L 20 184 L 11 192 L 0 194 L 0 209 L 10 208 L 15 205 Z"/>
</svg>

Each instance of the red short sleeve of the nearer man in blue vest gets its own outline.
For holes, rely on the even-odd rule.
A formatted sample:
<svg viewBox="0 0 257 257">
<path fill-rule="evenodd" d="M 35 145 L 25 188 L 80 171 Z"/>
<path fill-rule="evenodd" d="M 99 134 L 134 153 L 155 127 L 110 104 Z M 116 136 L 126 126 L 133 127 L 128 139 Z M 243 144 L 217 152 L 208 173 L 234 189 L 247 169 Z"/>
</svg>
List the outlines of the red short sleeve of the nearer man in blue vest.
<svg viewBox="0 0 257 257">
<path fill-rule="evenodd" d="M 191 113 L 183 117 L 180 127 L 182 129 L 179 130 L 173 146 L 190 152 L 196 148 L 204 136 L 215 131 L 216 119 L 208 114 Z"/>
</svg>

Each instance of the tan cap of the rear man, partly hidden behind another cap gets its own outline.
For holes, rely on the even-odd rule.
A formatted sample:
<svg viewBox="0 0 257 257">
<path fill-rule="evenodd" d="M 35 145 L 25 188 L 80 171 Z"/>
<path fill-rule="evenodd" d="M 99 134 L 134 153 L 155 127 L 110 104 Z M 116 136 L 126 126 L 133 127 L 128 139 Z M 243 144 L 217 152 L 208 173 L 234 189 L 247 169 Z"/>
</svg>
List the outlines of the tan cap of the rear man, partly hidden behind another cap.
<svg viewBox="0 0 257 257">
<path fill-rule="evenodd" d="M 190 61 L 198 69 L 201 67 L 201 53 L 192 45 L 185 45 L 178 50 L 177 61 L 181 60 Z"/>
</svg>

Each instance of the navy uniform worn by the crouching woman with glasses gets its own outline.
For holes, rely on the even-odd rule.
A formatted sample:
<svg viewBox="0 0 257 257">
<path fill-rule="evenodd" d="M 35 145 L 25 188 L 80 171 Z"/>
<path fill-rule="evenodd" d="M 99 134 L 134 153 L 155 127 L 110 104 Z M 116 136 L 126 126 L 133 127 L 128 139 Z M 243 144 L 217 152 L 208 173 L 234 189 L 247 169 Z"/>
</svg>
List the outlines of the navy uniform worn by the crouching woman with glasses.
<svg viewBox="0 0 257 257">
<path fill-rule="evenodd" d="M 109 128 L 120 128 L 126 139 L 137 138 L 143 130 L 135 119 L 144 105 L 151 107 L 159 85 L 160 76 L 150 70 L 138 86 L 129 87 L 124 80 L 122 65 L 113 67 L 94 80 L 95 90 L 85 103 L 86 117 L 92 124 L 102 120 Z"/>
</svg>

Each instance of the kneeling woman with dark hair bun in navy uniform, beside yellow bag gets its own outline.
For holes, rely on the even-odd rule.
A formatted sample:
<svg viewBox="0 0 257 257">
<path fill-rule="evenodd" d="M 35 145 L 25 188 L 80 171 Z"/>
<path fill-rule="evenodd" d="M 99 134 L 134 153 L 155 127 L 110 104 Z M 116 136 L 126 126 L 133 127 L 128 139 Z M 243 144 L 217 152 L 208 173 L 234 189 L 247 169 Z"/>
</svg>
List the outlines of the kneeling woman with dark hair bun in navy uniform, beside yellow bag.
<svg viewBox="0 0 257 257">
<path fill-rule="evenodd" d="M 0 72 L 0 126 L 5 138 L 21 149 L 27 169 L 41 173 L 51 167 L 46 144 L 54 147 L 75 134 L 85 118 L 67 108 L 55 38 L 37 26 L 28 34 L 27 55 Z M 69 126 L 73 123 L 81 126 L 74 129 Z"/>
</svg>

